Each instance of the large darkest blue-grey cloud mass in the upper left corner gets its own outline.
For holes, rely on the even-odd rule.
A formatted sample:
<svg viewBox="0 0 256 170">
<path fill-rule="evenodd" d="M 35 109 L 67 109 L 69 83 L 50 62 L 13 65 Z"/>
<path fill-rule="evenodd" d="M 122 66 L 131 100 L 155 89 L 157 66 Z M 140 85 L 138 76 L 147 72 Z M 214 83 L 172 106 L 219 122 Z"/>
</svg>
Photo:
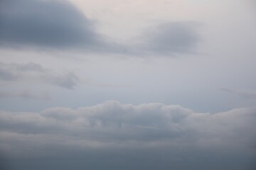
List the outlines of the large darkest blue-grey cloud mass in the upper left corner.
<svg viewBox="0 0 256 170">
<path fill-rule="evenodd" d="M 4 0 L 0 45 L 103 48 L 93 22 L 68 1 Z"/>
</svg>

